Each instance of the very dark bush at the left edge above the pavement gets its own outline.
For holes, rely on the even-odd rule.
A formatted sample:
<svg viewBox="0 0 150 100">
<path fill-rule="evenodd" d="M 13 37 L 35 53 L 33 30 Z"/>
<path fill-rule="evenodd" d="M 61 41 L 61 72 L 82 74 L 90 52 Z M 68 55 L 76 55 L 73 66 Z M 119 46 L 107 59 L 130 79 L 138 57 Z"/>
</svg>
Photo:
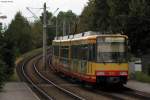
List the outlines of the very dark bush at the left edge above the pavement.
<svg viewBox="0 0 150 100">
<path fill-rule="evenodd" d="M 4 81 L 13 74 L 14 68 L 14 52 L 13 44 L 9 41 L 5 33 L 0 32 L 0 88 Z"/>
</svg>

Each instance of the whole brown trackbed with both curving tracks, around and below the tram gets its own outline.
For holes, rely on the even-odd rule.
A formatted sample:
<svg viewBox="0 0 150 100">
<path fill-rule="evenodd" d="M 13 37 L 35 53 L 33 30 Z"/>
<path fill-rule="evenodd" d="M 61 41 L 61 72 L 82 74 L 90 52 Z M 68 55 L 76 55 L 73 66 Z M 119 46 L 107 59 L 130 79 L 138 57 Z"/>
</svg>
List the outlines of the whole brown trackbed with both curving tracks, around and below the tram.
<svg viewBox="0 0 150 100">
<path fill-rule="evenodd" d="M 34 59 L 34 60 L 33 60 Z M 38 54 L 26 61 L 19 64 L 22 70 L 22 78 L 29 83 L 29 86 L 40 94 L 42 100 L 150 100 L 150 95 L 141 91 L 123 89 L 123 90 L 103 90 L 93 89 L 87 87 L 81 87 L 76 85 L 75 87 L 66 87 L 55 82 L 54 79 L 50 79 L 45 75 L 44 72 L 39 71 L 38 63 L 40 63 L 41 56 Z M 30 64 L 29 64 L 30 63 Z M 32 70 L 34 75 L 31 75 Z M 50 69 L 49 69 L 50 70 Z M 50 72 L 48 72 L 50 73 Z M 51 74 L 50 74 L 51 75 Z M 34 76 L 34 78 L 33 78 Z M 57 78 L 58 76 L 55 75 Z M 35 79 L 35 80 L 34 80 Z M 64 80 L 64 79 L 63 79 Z M 68 80 L 67 80 L 68 82 Z M 69 84 L 69 83 L 67 83 Z M 80 92 L 79 92 L 80 91 Z M 59 95 L 58 95 L 59 94 Z M 60 95 L 61 94 L 61 95 Z"/>
</svg>

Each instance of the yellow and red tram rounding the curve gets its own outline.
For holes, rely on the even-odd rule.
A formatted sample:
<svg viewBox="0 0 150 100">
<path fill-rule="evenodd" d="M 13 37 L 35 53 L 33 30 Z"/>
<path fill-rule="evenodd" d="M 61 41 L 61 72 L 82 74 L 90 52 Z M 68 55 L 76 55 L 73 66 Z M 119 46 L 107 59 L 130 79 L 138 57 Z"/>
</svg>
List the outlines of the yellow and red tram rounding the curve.
<svg viewBox="0 0 150 100">
<path fill-rule="evenodd" d="M 128 80 L 126 35 L 84 32 L 53 40 L 52 64 L 58 72 L 94 84 Z"/>
</svg>

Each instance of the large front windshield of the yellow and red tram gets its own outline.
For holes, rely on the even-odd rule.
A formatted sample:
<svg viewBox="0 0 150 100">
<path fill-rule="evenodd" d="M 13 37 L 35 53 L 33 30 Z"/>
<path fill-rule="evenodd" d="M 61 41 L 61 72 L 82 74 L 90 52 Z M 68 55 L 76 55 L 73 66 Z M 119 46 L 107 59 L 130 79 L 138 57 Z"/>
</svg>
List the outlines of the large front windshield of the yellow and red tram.
<svg viewBox="0 0 150 100">
<path fill-rule="evenodd" d="M 97 38 L 97 62 L 126 62 L 124 37 Z"/>
</svg>

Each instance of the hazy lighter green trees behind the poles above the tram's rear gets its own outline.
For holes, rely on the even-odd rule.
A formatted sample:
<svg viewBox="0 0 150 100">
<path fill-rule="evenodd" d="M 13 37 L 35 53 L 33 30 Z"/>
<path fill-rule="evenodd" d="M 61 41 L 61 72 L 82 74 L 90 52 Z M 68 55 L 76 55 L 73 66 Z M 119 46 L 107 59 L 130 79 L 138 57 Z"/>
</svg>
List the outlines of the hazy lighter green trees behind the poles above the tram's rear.
<svg viewBox="0 0 150 100">
<path fill-rule="evenodd" d="M 43 14 L 40 17 L 40 20 L 43 23 Z M 48 44 L 51 44 L 52 40 L 56 36 L 56 23 L 57 23 L 57 32 L 58 32 L 57 35 L 62 36 L 70 33 L 75 33 L 76 21 L 77 21 L 77 15 L 74 14 L 71 10 L 67 12 L 60 11 L 57 16 L 53 16 L 51 12 L 47 11 Z M 63 31 L 65 31 L 66 33 L 63 34 Z"/>
</svg>

